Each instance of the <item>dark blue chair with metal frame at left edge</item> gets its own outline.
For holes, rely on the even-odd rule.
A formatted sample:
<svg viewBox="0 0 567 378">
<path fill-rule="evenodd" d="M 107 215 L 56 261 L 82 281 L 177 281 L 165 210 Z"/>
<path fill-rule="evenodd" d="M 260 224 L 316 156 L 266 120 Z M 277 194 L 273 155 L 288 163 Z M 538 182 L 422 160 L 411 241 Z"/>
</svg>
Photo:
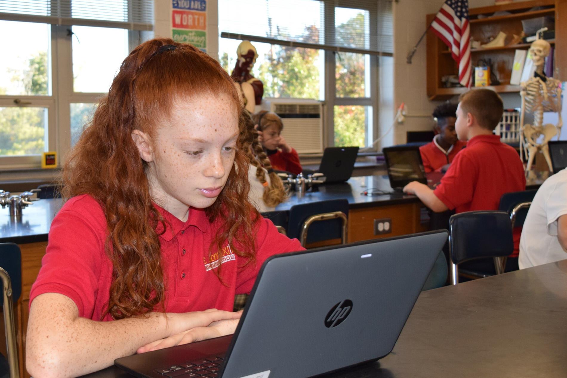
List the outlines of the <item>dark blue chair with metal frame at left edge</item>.
<svg viewBox="0 0 567 378">
<path fill-rule="evenodd" d="M 16 329 L 14 321 L 14 303 L 22 295 L 22 253 L 14 243 L 0 243 L 0 279 L 3 296 L 1 298 L 6 331 L 6 350 L 10 378 L 20 376 L 18 364 L 18 347 L 16 346 Z"/>
</svg>

